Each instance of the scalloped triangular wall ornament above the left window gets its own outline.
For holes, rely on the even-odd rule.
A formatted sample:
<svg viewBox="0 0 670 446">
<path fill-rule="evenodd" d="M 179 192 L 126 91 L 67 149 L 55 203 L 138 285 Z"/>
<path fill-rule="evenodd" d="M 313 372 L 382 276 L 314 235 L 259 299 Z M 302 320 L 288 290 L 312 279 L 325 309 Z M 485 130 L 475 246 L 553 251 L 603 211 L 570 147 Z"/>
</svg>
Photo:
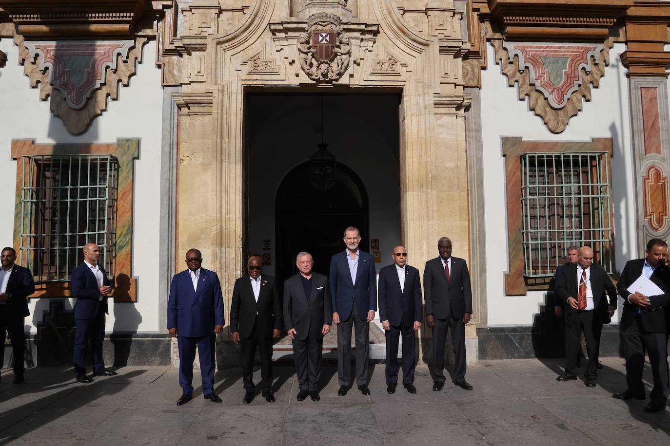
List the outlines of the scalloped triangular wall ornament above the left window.
<svg viewBox="0 0 670 446">
<path fill-rule="evenodd" d="M 19 64 L 23 65 L 30 86 L 39 84 L 40 99 L 50 100 L 52 113 L 63 120 L 72 134 L 84 132 L 96 116 L 107 110 L 107 96 L 117 100 L 119 84 L 128 86 L 142 61 L 142 47 L 147 41 L 146 37 L 137 37 L 134 42 L 47 44 L 26 43 L 21 35 L 14 37 L 19 46 Z M 66 48 L 64 53 L 61 47 Z M 68 62 L 68 58 L 72 60 Z M 82 59 L 88 64 L 77 62 Z"/>
</svg>

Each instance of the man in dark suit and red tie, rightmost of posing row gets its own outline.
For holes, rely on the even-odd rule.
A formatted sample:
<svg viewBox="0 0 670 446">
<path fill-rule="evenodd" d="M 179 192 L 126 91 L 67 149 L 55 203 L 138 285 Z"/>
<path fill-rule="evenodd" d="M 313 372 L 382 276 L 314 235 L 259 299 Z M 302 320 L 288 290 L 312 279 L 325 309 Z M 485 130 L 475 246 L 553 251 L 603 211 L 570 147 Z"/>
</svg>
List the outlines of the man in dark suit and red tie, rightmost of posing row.
<svg viewBox="0 0 670 446">
<path fill-rule="evenodd" d="M 452 241 L 442 237 L 438 241 L 439 257 L 425 262 L 423 269 L 423 299 L 426 324 L 433 329 L 433 391 L 444 387 L 444 346 L 447 330 L 452 330 L 454 346 L 454 375 L 452 381 L 466 391 L 472 385 L 465 380 L 465 326 L 472 317 L 472 288 L 470 272 L 464 259 L 452 257 Z"/>
</svg>

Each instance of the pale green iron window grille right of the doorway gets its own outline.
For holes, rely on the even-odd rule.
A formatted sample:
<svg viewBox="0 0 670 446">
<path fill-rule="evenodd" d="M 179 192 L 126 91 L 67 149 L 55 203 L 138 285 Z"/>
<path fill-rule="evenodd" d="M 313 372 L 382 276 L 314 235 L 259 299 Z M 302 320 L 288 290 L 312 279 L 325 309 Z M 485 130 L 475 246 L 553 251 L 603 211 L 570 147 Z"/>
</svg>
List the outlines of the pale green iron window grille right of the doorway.
<svg viewBox="0 0 670 446">
<path fill-rule="evenodd" d="M 612 273 L 612 215 L 606 152 L 521 156 L 521 209 L 526 277 L 547 277 L 567 247 L 589 245 Z"/>
</svg>

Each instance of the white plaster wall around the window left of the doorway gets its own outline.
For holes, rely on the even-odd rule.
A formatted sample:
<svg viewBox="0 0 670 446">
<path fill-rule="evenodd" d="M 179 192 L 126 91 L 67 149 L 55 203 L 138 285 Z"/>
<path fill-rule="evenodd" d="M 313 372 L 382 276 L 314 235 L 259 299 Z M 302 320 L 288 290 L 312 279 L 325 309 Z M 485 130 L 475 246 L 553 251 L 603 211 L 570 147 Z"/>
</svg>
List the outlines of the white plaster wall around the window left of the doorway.
<svg viewBox="0 0 670 446">
<path fill-rule="evenodd" d="M 160 71 L 153 64 L 155 41 L 145 45 L 143 63 L 121 87 L 119 98 L 109 100 L 108 110 L 80 135 L 69 134 L 60 118 L 49 111 L 36 88 L 30 88 L 18 64 L 18 48 L 12 39 L 0 39 L 0 50 L 7 53 L 7 64 L 0 68 L 0 179 L 4 193 L 0 199 L 0 245 L 11 245 L 16 161 L 11 160 L 11 140 L 34 139 L 38 144 L 54 142 L 115 142 L 117 138 L 141 138 L 139 159 L 135 161 L 133 193 L 133 276 L 138 277 L 137 304 L 113 304 L 110 300 L 107 332 L 157 332 L 159 166 L 161 153 L 162 89 Z M 9 216 L 9 217 L 7 217 Z M 72 304 L 70 302 L 70 304 Z M 31 300 L 31 316 L 25 319 L 31 332 L 42 321 L 46 299 Z"/>
</svg>

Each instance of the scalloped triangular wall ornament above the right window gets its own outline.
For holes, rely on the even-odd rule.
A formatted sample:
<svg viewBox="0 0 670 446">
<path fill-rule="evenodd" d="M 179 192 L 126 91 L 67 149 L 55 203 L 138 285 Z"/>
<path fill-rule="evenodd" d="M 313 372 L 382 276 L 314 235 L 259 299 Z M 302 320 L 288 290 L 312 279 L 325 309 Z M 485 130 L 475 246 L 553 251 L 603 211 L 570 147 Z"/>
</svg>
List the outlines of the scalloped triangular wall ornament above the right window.
<svg viewBox="0 0 670 446">
<path fill-rule="evenodd" d="M 570 118 L 576 116 L 582 110 L 582 98 L 591 100 L 591 84 L 594 88 L 600 84 L 600 78 L 604 76 L 605 67 L 609 65 L 609 49 L 612 47 L 612 41 L 608 40 L 600 47 L 599 55 L 595 49 L 586 51 L 585 54 L 588 55 L 589 61 L 567 63 L 570 60 L 569 56 L 559 56 L 567 58 L 565 70 L 572 70 L 572 72 L 569 72 L 569 74 L 563 73 L 563 82 L 559 83 L 559 86 L 562 84 L 566 84 L 566 86 L 556 89 L 555 82 L 545 83 L 545 87 L 541 87 L 543 82 L 547 82 L 548 79 L 555 76 L 557 72 L 555 68 L 553 70 L 554 74 L 550 74 L 547 72 L 544 62 L 542 66 L 538 62 L 535 62 L 537 66 L 533 66 L 531 62 L 526 63 L 525 59 L 511 56 L 505 48 L 506 46 L 519 46 L 519 44 L 502 43 L 500 39 L 492 39 L 491 44 L 495 48 L 496 64 L 501 66 L 502 74 L 507 76 L 509 86 L 514 86 L 515 83 L 519 84 L 519 100 L 525 100 L 525 96 L 528 96 L 529 108 L 542 118 L 547 128 L 553 133 L 563 132 Z M 566 43 L 565 45 L 536 46 L 560 52 L 567 51 L 566 48 L 576 47 L 577 45 Z M 542 51 L 549 50 L 543 49 Z M 594 58 L 594 63 L 590 62 L 591 57 Z M 542 62 L 541 59 L 539 61 Z M 549 61 L 547 60 L 547 62 Z M 525 66 L 533 67 L 533 70 L 524 69 Z M 535 76 L 538 76 L 538 78 L 535 78 Z M 574 82 L 569 84 L 569 79 L 572 78 L 576 79 L 574 82 L 577 85 Z M 547 90 L 547 87 L 550 87 L 549 90 Z M 564 94 L 561 94 L 563 99 L 556 100 L 557 94 L 565 88 L 567 90 Z M 554 95 L 554 91 L 556 91 L 556 95 Z M 550 96 L 551 100 L 549 99 Z M 561 108 L 555 108 L 554 104 L 562 106 Z"/>
</svg>

